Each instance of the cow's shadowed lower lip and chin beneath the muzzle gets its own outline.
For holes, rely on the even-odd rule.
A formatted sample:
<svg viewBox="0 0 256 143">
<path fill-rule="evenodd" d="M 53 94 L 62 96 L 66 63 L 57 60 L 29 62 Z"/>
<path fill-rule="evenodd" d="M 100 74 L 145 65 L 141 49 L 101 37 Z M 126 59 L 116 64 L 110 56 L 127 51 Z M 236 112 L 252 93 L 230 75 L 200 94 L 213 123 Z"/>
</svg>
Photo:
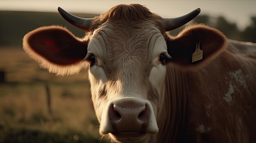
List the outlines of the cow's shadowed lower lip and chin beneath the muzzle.
<svg viewBox="0 0 256 143">
<path fill-rule="evenodd" d="M 141 142 L 148 136 L 147 132 L 114 132 L 110 136 L 119 142 Z"/>
</svg>

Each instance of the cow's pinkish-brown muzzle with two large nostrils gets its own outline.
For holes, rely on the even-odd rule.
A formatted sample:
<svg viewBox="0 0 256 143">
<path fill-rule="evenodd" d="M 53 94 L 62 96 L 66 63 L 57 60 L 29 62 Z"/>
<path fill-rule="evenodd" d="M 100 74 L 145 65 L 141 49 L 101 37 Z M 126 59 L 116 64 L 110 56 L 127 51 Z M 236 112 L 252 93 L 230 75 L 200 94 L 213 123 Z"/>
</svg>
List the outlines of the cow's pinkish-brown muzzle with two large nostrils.
<svg viewBox="0 0 256 143">
<path fill-rule="evenodd" d="M 117 139 L 139 139 L 157 132 L 153 107 L 146 100 L 126 97 L 112 101 L 101 117 L 100 133 L 110 133 Z"/>
</svg>

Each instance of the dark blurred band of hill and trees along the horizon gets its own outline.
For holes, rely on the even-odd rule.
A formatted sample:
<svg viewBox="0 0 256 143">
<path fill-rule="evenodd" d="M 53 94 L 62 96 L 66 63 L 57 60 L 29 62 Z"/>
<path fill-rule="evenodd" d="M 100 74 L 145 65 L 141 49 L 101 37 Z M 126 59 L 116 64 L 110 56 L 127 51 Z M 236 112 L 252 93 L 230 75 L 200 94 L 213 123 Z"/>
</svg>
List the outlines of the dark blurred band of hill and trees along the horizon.
<svg viewBox="0 0 256 143">
<path fill-rule="evenodd" d="M 93 18 L 97 14 L 79 14 L 79 17 Z M 25 11 L 0 11 L 0 46 L 22 47 L 23 36 L 40 26 L 62 25 L 66 26 L 74 35 L 83 37 L 84 31 L 77 29 L 66 22 L 59 13 L 49 12 L 25 12 Z M 224 17 L 217 18 L 208 15 L 198 15 L 191 23 L 204 23 L 219 29 L 229 39 L 256 42 L 256 16 L 251 18 L 251 24 L 240 31 L 236 23 L 227 21 Z M 188 25 L 188 24 L 187 24 Z M 186 25 L 185 25 L 186 26 Z M 185 26 L 171 31 L 172 35 L 177 35 Z"/>
</svg>

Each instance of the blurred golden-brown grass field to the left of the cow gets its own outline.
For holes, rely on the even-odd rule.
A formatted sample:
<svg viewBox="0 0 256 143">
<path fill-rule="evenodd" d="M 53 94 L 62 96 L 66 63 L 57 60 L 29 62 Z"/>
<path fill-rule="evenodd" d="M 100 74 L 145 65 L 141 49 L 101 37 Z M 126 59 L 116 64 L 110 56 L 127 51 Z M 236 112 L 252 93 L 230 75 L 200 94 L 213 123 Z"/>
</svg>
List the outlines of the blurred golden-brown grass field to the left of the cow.
<svg viewBox="0 0 256 143">
<path fill-rule="evenodd" d="M 0 48 L 0 71 L 0 143 L 106 142 L 99 136 L 86 69 L 56 77 L 21 48 Z"/>
</svg>

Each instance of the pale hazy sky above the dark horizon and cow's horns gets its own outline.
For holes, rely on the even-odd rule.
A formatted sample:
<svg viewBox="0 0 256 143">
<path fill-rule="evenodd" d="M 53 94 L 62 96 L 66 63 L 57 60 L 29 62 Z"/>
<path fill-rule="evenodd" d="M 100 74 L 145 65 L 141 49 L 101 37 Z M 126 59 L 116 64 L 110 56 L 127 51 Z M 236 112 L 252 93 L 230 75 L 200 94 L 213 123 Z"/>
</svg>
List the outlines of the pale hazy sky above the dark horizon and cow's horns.
<svg viewBox="0 0 256 143">
<path fill-rule="evenodd" d="M 95 13 L 108 11 L 117 4 L 139 3 L 163 18 L 182 16 L 200 8 L 201 15 L 223 15 L 229 22 L 236 22 L 240 30 L 250 25 L 256 16 L 256 0 L 0 0 L 0 11 L 58 12 L 61 7 L 70 13 Z"/>
</svg>

